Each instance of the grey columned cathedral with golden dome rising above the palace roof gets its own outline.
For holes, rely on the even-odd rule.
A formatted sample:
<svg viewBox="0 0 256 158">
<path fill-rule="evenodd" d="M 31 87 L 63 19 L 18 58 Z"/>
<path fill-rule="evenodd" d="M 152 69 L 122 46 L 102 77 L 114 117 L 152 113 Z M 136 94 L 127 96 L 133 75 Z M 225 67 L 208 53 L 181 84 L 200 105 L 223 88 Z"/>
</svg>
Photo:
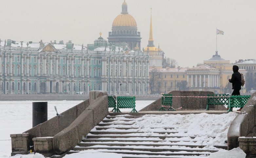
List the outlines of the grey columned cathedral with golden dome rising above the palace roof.
<svg viewBox="0 0 256 158">
<path fill-rule="evenodd" d="M 132 15 L 128 13 L 127 3 L 122 4 L 122 12 L 112 23 L 112 31 L 108 34 L 109 43 L 125 42 L 134 50 L 138 47 L 140 50 L 140 32 L 137 31 L 137 23 Z"/>
</svg>

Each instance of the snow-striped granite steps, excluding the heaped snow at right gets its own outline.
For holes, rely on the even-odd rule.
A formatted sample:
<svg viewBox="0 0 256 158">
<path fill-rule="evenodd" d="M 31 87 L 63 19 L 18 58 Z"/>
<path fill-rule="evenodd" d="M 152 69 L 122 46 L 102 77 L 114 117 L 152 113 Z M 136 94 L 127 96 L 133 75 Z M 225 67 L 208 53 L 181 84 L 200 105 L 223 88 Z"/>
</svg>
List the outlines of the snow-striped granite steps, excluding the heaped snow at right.
<svg viewBox="0 0 256 158">
<path fill-rule="evenodd" d="M 138 126 L 147 116 L 116 115 L 110 113 L 82 142 L 67 154 L 81 150 L 113 152 L 123 158 L 135 157 L 190 157 L 210 155 L 227 146 L 207 146 L 209 137 L 184 136 L 173 127 L 154 128 Z M 154 117 L 153 117 L 154 118 Z"/>
</svg>

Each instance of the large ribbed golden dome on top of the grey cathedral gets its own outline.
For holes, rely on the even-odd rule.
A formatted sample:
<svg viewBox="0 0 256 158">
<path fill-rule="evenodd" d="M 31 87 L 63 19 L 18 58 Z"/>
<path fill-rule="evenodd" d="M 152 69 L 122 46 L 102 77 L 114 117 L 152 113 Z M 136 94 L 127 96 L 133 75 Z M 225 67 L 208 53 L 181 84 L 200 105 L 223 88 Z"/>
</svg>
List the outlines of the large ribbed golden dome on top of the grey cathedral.
<svg viewBox="0 0 256 158">
<path fill-rule="evenodd" d="M 120 14 L 114 19 L 112 26 L 137 26 L 137 23 L 130 14 Z"/>
</svg>

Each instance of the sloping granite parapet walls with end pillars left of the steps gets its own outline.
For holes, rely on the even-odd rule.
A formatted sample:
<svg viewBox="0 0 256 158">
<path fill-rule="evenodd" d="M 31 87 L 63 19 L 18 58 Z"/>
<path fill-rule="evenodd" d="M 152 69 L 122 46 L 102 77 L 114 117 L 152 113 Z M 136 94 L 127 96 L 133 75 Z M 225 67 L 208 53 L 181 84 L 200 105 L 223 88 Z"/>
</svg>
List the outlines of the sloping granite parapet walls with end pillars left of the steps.
<svg viewBox="0 0 256 158">
<path fill-rule="evenodd" d="M 11 155 L 27 154 L 29 146 L 35 144 L 32 140 L 33 138 L 41 141 L 42 139 L 47 139 L 47 144 L 52 142 L 51 149 L 42 150 L 47 156 L 54 153 L 62 154 L 72 149 L 82 141 L 83 136 L 86 136 L 95 125 L 108 115 L 107 92 L 90 91 L 90 99 L 66 110 L 61 115 L 63 116 L 49 119 L 25 131 L 23 134 L 10 134 L 12 142 Z M 27 144 L 26 147 L 24 144 Z M 35 150 L 38 149 L 37 147 L 34 148 Z M 44 148 L 45 146 L 42 146 L 42 149 Z"/>
</svg>

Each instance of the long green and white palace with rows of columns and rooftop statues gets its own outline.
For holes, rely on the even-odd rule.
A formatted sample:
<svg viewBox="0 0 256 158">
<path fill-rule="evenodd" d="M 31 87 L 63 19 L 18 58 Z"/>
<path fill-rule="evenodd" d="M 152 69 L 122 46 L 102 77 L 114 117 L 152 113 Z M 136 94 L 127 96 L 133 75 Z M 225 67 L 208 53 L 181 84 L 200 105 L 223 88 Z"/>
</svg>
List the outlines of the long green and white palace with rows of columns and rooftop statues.
<svg viewBox="0 0 256 158">
<path fill-rule="evenodd" d="M 72 41 L 0 40 L 0 94 L 149 93 L 149 54 L 102 37 Z"/>
</svg>

